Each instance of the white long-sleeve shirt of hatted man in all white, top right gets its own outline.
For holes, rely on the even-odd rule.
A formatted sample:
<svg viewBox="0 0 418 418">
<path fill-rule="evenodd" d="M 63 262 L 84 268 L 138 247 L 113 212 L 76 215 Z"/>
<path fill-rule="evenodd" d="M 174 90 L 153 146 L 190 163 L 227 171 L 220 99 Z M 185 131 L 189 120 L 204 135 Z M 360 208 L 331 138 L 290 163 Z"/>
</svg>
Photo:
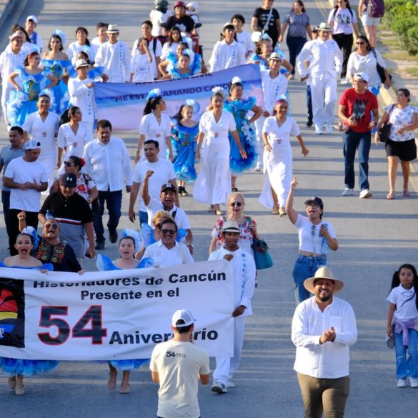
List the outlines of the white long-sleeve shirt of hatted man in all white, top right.
<svg viewBox="0 0 418 418">
<path fill-rule="evenodd" d="M 304 61 L 309 61 L 306 68 Z M 339 76 L 342 69 L 342 51 L 334 39 L 314 41 L 304 44 L 302 51 L 297 56 L 297 71 L 304 77 L 309 74 L 314 79 L 322 79 L 327 74 Z"/>
</svg>

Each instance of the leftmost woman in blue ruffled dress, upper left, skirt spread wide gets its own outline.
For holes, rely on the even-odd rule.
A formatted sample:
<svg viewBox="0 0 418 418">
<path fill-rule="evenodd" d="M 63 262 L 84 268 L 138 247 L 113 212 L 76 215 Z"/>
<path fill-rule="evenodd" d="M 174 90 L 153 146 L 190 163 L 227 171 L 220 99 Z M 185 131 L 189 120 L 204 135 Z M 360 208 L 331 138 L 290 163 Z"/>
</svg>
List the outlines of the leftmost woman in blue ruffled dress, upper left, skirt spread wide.
<svg viewBox="0 0 418 418">
<path fill-rule="evenodd" d="M 48 79 L 51 81 L 49 89 L 52 89 L 58 80 L 49 74 L 48 69 L 39 68 L 39 53 L 32 52 L 26 56 L 24 64 L 25 66 L 19 66 L 9 75 L 9 82 L 16 88 L 16 91 L 11 91 L 6 107 L 11 126 L 22 126 L 26 116 L 38 110 L 37 102 L 42 94 L 48 93 L 51 104 L 54 104 L 54 93 L 46 91 L 45 87 Z"/>
</svg>

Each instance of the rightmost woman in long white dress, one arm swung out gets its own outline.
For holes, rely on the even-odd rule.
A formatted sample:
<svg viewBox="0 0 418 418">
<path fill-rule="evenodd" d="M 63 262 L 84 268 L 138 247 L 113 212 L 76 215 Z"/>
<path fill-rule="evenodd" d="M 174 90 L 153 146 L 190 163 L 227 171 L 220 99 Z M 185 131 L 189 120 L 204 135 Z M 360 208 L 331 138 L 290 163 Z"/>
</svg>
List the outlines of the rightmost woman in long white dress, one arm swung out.
<svg viewBox="0 0 418 418">
<path fill-rule="evenodd" d="M 286 99 L 279 99 L 274 104 L 275 116 L 270 116 L 264 122 L 264 186 L 259 202 L 273 208 L 272 214 L 281 217 L 286 214 L 287 195 L 292 181 L 292 146 L 290 136 L 296 136 L 302 147 L 302 154 L 309 151 L 304 145 L 299 126 L 290 116 L 286 116 L 289 104 Z"/>
</svg>

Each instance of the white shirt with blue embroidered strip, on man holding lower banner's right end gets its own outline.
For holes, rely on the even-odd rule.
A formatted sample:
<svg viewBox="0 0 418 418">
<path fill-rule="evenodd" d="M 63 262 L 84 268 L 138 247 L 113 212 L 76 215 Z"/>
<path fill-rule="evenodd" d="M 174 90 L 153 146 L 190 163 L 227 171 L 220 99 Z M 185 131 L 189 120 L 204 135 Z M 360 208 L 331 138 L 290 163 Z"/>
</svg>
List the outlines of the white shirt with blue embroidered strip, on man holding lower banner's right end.
<svg viewBox="0 0 418 418">
<path fill-rule="evenodd" d="M 254 259 L 249 252 L 239 248 L 235 251 L 228 251 L 222 246 L 217 251 L 212 252 L 208 261 L 222 260 L 225 255 L 232 254 L 234 257 L 232 271 L 234 272 L 234 307 L 243 305 L 246 307 L 242 317 L 252 315 L 251 299 L 254 294 L 256 268 Z"/>
</svg>

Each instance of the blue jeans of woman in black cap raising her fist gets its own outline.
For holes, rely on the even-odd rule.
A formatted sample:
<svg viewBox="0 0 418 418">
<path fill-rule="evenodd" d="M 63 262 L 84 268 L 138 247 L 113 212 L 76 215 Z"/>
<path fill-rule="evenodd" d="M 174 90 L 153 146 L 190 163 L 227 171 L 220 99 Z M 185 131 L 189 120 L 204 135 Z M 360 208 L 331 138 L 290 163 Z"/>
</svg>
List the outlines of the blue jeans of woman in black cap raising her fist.
<svg viewBox="0 0 418 418">
<path fill-rule="evenodd" d="M 314 277 L 317 269 L 326 265 L 326 255 L 309 257 L 302 254 L 297 254 L 297 259 L 294 263 L 292 271 L 294 280 L 294 296 L 296 297 L 297 304 L 311 297 L 311 294 L 307 291 L 307 289 L 304 288 L 304 281 L 309 279 L 309 277 Z"/>
</svg>

